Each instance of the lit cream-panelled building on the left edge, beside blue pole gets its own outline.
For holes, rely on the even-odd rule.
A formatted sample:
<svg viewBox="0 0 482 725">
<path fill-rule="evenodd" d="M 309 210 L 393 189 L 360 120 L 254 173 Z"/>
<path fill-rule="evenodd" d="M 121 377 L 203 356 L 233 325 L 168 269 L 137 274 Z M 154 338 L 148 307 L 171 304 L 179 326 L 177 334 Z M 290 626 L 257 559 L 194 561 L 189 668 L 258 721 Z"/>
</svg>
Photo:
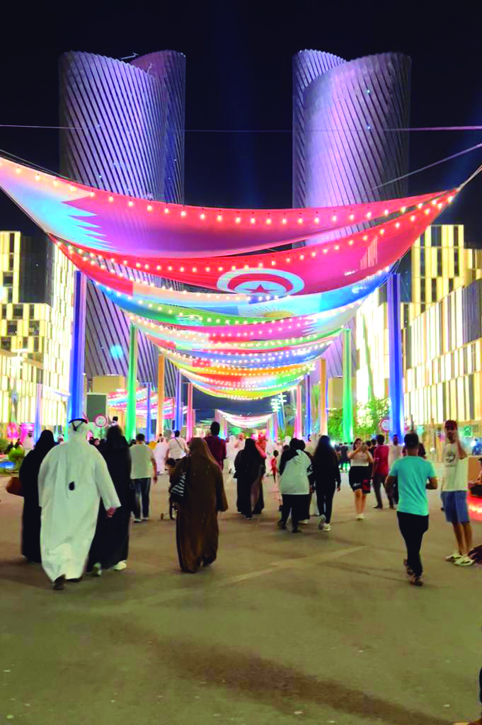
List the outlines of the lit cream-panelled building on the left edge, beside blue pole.
<svg viewBox="0 0 482 725">
<path fill-rule="evenodd" d="M 0 232 L 0 428 L 63 428 L 72 339 L 72 262 L 46 238 Z"/>
</svg>

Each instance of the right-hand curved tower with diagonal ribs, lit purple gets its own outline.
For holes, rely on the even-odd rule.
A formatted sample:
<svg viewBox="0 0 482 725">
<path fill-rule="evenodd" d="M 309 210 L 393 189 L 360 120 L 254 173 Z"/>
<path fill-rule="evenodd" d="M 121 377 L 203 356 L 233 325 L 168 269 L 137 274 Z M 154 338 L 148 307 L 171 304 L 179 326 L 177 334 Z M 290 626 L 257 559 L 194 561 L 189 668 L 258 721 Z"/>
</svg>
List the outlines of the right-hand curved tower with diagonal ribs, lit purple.
<svg viewBox="0 0 482 725">
<path fill-rule="evenodd" d="M 407 195 L 408 133 L 400 129 L 410 120 L 410 70 L 400 53 L 352 61 L 315 50 L 294 56 L 294 207 Z M 341 376 L 341 339 L 323 357 L 328 376 Z"/>
</svg>

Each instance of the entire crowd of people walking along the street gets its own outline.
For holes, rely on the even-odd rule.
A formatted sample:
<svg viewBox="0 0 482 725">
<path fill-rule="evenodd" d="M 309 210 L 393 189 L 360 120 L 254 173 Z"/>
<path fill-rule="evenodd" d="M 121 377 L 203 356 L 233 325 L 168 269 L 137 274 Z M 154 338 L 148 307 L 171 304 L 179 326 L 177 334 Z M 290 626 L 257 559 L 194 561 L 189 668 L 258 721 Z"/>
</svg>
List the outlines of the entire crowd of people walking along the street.
<svg viewBox="0 0 482 725">
<path fill-rule="evenodd" d="M 101 576 L 107 569 L 127 566 L 130 521 L 150 518 L 150 489 L 158 476 L 170 480 L 170 515 L 176 519 L 176 542 L 182 571 L 194 573 L 217 556 L 217 514 L 228 508 L 223 472 L 236 481 L 236 509 L 252 521 L 265 508 L 264 486 L 278 502 L 278 526 L 293 534 L 312 516 L 320 530 L 331 531 L 333 498 L 340 490 L 341 472 L 349 468 L 357 521 L 365 517 L 367 494 L 375 494 L 375 509 L 397 509 L 399 529 L 407 548 L 404 564 L 409 581 L 423 583 L 420 549 L 428 530 L 426 489 L 438 486 L 425 449 L 410 432 L 404 445 L 397 436 L 386 444 L 383 434 L 373 441 L 360 438 L 332 446 L 328 436 L 273 442 L 264 434 L 220 437 L 219 423 L 204 438 L 186 442 L 180 431 L 159 436 L 154 449 L 143 434 L 128 444 L 119 426 L 107 436 L 86 440 L 87 423 L 71 421 L 68 440 L 56 445 L 43 431 L 20 468 L 24 496 L 22 554 L 41 563 L 54 589 L 65 581 L 80 581 L 84 573 Z M 452 524 L 456 548 L 447 560 L 471 566 L 472 529 L 467 508 L 468 456 L 457 423 L 446 421 L 444 481 L 441 499 Z"/>
</svg>

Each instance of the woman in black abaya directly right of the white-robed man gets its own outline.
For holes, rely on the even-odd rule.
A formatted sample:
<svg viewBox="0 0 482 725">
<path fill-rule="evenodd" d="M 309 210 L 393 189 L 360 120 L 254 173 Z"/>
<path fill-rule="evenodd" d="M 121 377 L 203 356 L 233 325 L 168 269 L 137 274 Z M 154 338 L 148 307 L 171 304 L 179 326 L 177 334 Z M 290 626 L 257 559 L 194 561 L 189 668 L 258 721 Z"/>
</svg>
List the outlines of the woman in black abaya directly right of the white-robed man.
<svg viewBox="0 0 482 725">
<path fill-rule="evenodd" d="M 112 518 L 107 518 L 104 505 L 100 504 L 96 533 L 88 555 L 87 571 L 100 576 L 102 569 L 114 568 L 122 571 L 127 566 L 129 550 L 129 524 L 131 511 L 130 492 L 130 452 L 128 442 L 119 426 L 107 431 L 107 439 L 102 448 L 115 492 L 120 500 Z"/>
</svg>

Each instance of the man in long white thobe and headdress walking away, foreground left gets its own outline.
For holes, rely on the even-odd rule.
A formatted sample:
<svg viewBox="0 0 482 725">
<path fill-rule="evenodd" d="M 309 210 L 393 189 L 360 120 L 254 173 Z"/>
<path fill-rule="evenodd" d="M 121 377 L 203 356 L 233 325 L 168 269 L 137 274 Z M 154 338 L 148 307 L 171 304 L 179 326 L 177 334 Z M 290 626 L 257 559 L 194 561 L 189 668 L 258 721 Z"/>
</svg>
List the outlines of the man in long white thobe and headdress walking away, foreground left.
<svg viewBox="0 0 482 725">
<path fill-rule="evenodd" d="M 52 448 L 38 473 L 42 567 L 54 589 L 83 576 L 100 500 L 108 516 L 120 507 L 107 464 L 86 434 L 86 421 L 70 421 L 67 443 Z"/>
</svg>

